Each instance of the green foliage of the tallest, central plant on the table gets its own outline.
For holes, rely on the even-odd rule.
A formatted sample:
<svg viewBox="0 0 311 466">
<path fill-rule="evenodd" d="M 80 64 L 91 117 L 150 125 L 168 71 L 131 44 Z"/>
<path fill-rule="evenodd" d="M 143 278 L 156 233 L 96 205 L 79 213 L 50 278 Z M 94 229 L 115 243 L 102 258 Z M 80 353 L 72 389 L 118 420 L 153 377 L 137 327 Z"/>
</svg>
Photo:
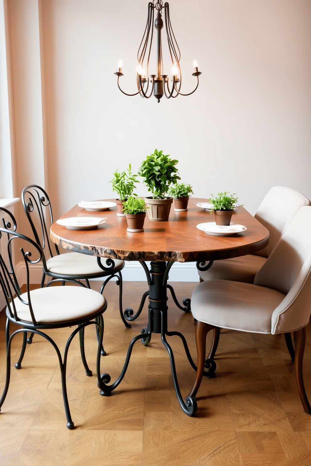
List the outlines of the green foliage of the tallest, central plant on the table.
<svg viewBox="0 0 311 466">
<path fill-rule="evenodd" d="M 175 165 L 178 160 L 172 160 L 163 151 L 155 149 L 154 153 L 147 156 L 138 170 L 138 175 L 144 178 L 148 191 L 152 192 L 153 199 L 164 199 L 169 186 L 180 179 Z"/>
</svg>

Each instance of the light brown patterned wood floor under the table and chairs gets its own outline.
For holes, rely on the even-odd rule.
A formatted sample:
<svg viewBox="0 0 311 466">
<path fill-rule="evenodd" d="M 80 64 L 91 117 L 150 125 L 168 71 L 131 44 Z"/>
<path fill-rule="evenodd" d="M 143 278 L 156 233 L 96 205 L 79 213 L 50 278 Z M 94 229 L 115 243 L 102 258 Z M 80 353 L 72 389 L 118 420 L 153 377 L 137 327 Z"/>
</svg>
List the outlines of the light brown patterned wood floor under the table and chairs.
<svg viewBox="0 0 311 466">
<path fill-rule="evenodd" d="M 180 301 L 195 283 L 172 283 Z M 93 282 L 93 288 L 97 283 Z M 138 308 L 143 282 L 124 283 L 124 308 Z M 118 314 L 117 287 L 104 295 L 102 372 L 114 380 L 131 338 L 145 327 L 146 305 L 131 329 Z M 169 328 L 180 330 L 195 356 L 194 320 L 169 295 Z M 60 345 L 68 330 L 50 331 Z M 194 380 L 177 337 L 173 347 L 180 389 L 187 395 Z M 21 349 L 17 336 L 12 366 Z M 96 337 L 86 330 L 86 355 L 95 369 Z M 222 331 L 216 355 L 217 377 L 203 382 L 198 411 L 187 417 L 176 400 L 166 349 L 159 335 L 148 347 L 134 346 L 129 369 L 111 397 L 101 397 L 96 377 L 86 377 L 78 339 L 67 370 L 68 395 L 76 429 L 68 431 L 55 351 L 35 336 L 21 370 L 13 366 L 0 413 L 1 466 L 310 466 L 311 416 L 304 413 L 295 373 L 283 336 Z M 304 357 L 304 379 L 311 398 L 311 329 Z M 0 314 L 0 391 L 5 380 L 5 316 Z"/>
</svg>

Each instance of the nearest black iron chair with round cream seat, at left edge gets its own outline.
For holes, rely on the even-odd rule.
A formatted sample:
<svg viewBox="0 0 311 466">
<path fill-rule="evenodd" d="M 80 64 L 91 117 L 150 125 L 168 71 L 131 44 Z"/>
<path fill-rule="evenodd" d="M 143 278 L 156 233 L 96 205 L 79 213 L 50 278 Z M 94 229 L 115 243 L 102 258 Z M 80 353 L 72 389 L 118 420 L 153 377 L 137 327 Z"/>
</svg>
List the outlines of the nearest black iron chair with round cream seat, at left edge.
<svg viewBox="0 0 311 466">
<path fill-rule="evenodd" d="M 11 371 L 11 344 L 14 337 L 19 333 L 27 334 L 32 332 L 48 340 L 55 348 L 58 356 L 62 378 L 62 396 L 67 417 L 68 429 L 74 428 L 74 423 L 71 419 L 69 403 L 66 388 L 66 365 L 69 345 L 76 335 L 80 336 L 80 350 L 84 369 L 87 376 L 92 375 L 89 369 L 84 354 L 84 338 L 83 333 L 88 325 L 95 325 L 98 331 L 98 349 L 97 349 L 97 380 L 98 386 L 102 386 L 100 378 L 100 359 L 101 348 L 103 342 L 104 320 L 103 312 L 107 308 L 107 302 L 103 295 L 97 291 L 87 288 L 83 283 L 80 286 L 47 286 L 30 290 L 29 286 L 29 265 L 37 264 L 42 260 L 43 252 L 41 247 L 35 241 L 27 238 L 21 233 L 16 232 L 16 221 L 13 215 L 7 209 L 1 209 L 5 212 L 9 220 L 2 218 L 0 227 L 0 243 L 3 247 L 0 251 L 7 251 L 7 254 L 0 253 L 0 286 L 6 299 L 6 343 L 7 343 L 7 375 L 2 397 L 0 399 L 0 408 L 7 396 L 7 391 L 10 383 Z M 5 244 L 4 244 L 5 243 Z M 15 248 L 14 248 L 15 244 Z M 14 259 L 12 251 L 17 247 L 20 248 L 22 260 L 25 262 L 27 272 L 27 291 L 21 292 L 21 287 L 18 283 L 17 276 L 14 271 Z M 6 257 L 4 257 L 6 256 Z M 20 257 L 15 257 L 15 262 L 18 263 Z M 34 259 L 32 259 L 34 257 Z M 50 284 L 54 284 L 55 279 Z M 17 324 L 21 328 L 15 330 L 10 335 L 10 322 Z M 48 329 L 60 329 L 65 327 L 77 326 L 69 336 L 65 345 L 64 356 L 62 359 L 61 352 L 56 343 L 48 336 L 45 331 Z M 21 356 L 18 363 L 15 364 L 16 369 L 21 368 L 26 347 L 26 339 L 23 339 Z"/>
</svg>

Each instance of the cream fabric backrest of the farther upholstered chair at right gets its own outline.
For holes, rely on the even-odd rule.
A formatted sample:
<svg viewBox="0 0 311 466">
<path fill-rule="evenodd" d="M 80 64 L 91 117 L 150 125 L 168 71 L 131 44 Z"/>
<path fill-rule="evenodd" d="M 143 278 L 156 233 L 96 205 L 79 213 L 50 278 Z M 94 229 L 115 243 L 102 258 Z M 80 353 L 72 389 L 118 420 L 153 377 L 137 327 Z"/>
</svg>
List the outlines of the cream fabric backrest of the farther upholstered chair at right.
<svg viewBox="0 0 311 466">
<path fill-rule="evenodd" d="M 267 192 L 255 214 L 255 218 L 270 233 L 268 246 L 256 253 L 256 255 L 269 257 L 295 213 L 300 207 L 310 205 L 310 200 L 294 189 L 285 186 L 273 186 Z"/>
</svg>

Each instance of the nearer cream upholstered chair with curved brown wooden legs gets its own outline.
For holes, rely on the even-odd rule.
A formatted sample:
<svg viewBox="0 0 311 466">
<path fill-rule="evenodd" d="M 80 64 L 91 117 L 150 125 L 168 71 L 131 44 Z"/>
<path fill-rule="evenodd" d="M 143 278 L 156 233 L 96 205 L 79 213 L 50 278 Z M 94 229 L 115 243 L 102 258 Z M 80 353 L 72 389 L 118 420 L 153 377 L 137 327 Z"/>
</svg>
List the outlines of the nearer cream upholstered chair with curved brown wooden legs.
<svg viewBox="0 0 311 466">
<path fill-rule="evenodd" d="M 311 407 L 304 389 L 303 356 L 311 313 L 311 206 L 299 209 L 276 247 L 256 273 L 254 283 L 201 282 L 191 298 L 196 322 L 198 370 L 189 396 L 197 393 L 211 329 L 262 334 L 294 332 L 296 381 L 304 411 Z M 214 361 L 209 360 L 213 366 Z"/>
</svg>

